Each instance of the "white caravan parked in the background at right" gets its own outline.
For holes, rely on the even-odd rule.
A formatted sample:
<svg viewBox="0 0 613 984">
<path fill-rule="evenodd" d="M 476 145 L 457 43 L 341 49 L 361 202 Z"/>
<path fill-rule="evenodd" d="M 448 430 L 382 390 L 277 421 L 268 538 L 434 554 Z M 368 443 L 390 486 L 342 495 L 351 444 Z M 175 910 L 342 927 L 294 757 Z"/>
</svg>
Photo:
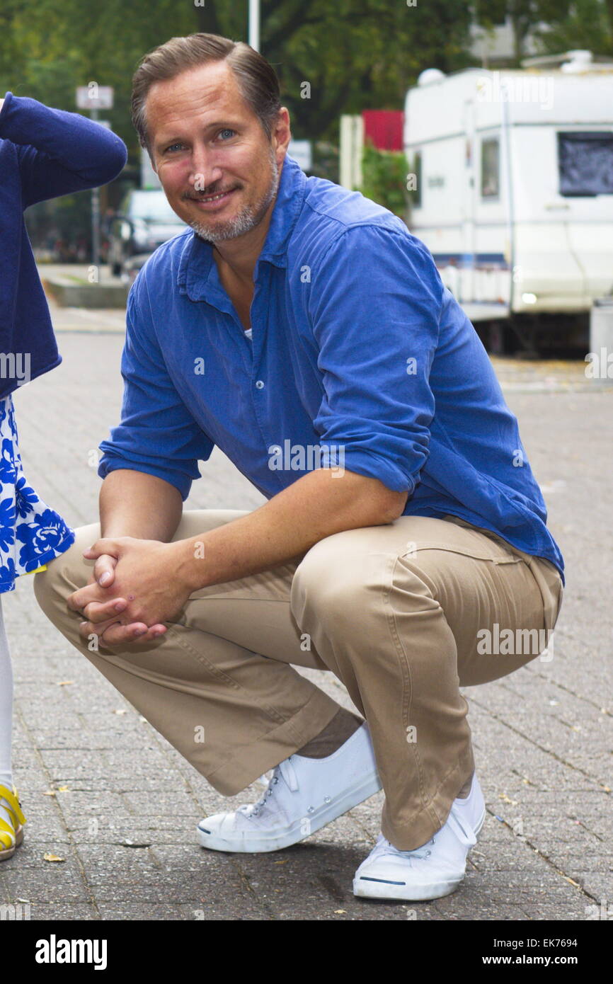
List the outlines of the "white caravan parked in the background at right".
<svg viewBox="0 0 613 984">
<path fill-rule="evenodd" d="M 554 328 L 613 290 L 613 62 L 523 64 L 407 92 L 409 228 L 472 321 Z"/>
</svg>

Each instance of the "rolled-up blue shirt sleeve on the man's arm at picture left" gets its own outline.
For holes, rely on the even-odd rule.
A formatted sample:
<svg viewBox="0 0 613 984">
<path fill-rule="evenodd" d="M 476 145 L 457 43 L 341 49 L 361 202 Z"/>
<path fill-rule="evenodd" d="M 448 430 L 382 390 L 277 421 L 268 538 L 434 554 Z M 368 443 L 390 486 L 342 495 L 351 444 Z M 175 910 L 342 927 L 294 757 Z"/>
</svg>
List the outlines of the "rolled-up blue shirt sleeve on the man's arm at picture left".
<svg viewBox="0 0 613 984">
<path fill-rule="evenodd" d="M 128 295 L 126 341 L 121 356 L 124 381 L 121 420 L 98 446 L 98 475 L 116 468 L 145 471 L 174 485 L 183 501 L 200 478 L 214 442 L 196 422 L 168 375 L 153 330 L 149 301 L 140 301 L 142 274 Z"/>
</svg>

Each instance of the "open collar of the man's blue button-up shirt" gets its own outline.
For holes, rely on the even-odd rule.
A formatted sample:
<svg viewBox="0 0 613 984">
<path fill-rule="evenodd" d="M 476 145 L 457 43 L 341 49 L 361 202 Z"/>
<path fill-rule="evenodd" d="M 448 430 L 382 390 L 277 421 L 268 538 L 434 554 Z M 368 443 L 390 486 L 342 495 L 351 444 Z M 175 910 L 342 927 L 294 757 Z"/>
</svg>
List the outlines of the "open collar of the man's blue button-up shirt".
<svg viewBox="0 0 613 984">
<path fill-rule="evenodd" d="M 271 224 L 256 263 L 256 277 L 263 260 L 270 261 L 276 267 L 287 266 L 287 243 L 302 209 L 306 180 L 306 174 L 299 164 L 293 157 L 285 155 Z M 216 276 L 213 244 L 196 232 L 187 237 L 183 248 L 177 286 L 179 292 L 186 293 L 192 301 L 208 300 L 212 292 L 218 294 L 222 289 Z"/>
</svg>

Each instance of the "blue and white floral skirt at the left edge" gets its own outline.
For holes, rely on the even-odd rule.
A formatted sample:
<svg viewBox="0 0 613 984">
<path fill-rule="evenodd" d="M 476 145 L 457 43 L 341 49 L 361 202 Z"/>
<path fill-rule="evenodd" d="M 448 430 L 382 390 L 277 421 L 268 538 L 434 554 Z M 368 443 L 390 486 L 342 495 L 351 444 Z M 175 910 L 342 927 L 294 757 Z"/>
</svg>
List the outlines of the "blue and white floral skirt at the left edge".
<svg viewBox="0 0 613 984">
<path fill-rule="evenodd" d="M 26 480 L 11 395 L 0 399 L 0 594 L 74 543 L 75 532 Z"/>
</svg>

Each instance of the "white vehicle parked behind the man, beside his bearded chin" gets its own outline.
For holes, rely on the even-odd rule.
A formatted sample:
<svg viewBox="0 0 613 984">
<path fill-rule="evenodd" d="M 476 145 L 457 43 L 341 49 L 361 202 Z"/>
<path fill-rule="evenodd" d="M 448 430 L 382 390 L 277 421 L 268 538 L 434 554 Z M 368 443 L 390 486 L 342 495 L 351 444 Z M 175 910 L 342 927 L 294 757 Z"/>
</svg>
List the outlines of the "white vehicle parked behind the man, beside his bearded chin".
<svg viewBox="0 0 613 984">
<path fill-rule="evenodd" d="M 129 191 L 119 213 L 111 220 L 108 246 L 111 273 L 120 277 L 130 257 L 153 253 L 185 228 L 185 222 L 172 211 L 161 189 Z"/>
</svg>

